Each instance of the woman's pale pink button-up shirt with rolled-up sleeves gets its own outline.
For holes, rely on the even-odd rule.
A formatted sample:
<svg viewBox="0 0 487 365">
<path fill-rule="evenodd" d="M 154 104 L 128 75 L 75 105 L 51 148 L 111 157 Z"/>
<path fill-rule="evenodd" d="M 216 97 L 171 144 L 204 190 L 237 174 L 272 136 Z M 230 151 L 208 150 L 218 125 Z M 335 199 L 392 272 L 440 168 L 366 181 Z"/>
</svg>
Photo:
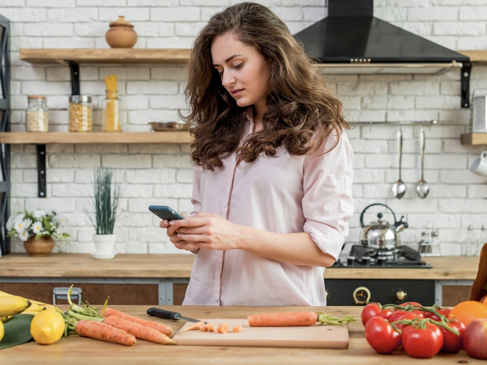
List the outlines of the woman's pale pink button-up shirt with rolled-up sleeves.
<svg viewBox="0 0 487 365">
<path fill-rule="evenodd" d="M 245 139 L 254 128 L 247 119 Z M 322 151 L 336 138 L 329 137 Z M 236 166 L 196 166 L 192 202 L 196 212 L 277 233 L 307 232 L 323 252 L 338 258 L 353 213 L 353 152 L 345 133 L 324 155 L 290 155 L 284 147 Z M 183 305 L 326 305 L 325 268 L 300 266 L 233 249 L 200 248 Z"/>
</svg>

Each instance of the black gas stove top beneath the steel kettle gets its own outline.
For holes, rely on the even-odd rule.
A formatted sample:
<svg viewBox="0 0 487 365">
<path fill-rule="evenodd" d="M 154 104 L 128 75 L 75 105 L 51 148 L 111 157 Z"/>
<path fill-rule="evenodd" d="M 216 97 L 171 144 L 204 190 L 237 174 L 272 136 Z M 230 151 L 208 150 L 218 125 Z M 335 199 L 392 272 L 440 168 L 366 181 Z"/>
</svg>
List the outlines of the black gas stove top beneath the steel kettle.
<svg viewBox="0 0 487 365">
<path fill-rule="evenodd" d="M 371 248 L 354 245 L 347 258 L 338 260 L 333 268 L 431 268 L 432 266 L 421 260 L 421 254 L 408 247 Z"/>
</svg>

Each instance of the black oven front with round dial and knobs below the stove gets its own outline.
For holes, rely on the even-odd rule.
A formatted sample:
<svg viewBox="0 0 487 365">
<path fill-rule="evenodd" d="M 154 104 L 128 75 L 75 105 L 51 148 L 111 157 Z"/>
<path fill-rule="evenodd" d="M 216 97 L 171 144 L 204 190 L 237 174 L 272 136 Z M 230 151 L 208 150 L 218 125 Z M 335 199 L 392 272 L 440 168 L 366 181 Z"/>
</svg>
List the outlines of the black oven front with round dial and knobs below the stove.
<svg viewBox="0 0 487 365">
<path fill-rule="evenodd" d="M 363 306 L 371 302 L 435 303 L 435 280 L 326 279 L 327 305 Z"/>
</svg>

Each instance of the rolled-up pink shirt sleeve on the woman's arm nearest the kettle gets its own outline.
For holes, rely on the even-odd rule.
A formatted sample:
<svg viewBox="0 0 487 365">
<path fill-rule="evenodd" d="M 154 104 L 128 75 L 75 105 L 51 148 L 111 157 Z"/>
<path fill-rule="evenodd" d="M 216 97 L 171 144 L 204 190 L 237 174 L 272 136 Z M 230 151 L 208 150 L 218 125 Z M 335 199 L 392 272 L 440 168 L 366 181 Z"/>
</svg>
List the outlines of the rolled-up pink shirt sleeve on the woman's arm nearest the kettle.
<svg viewBox="0 0 487 365">
<path fill-rule="evenodd" d="M 338 259 L 349 234 L 348 221 L 354 211 L 352 198 L 353 151 L 345 133 L 338 144 L 331 135 L 317 154 L 303 164 L 304 232 L 311 235 L 320 249 Z"/>
</svg>

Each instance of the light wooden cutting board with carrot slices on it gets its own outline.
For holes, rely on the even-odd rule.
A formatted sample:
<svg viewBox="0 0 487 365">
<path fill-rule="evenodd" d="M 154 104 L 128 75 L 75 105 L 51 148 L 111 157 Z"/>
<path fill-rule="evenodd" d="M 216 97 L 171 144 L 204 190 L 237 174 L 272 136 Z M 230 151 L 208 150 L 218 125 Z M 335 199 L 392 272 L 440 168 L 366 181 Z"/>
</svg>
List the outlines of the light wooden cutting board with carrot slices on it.
<svg viewBox="0 0 487 365">
<path fill-rule="evenodd" d="M 178 345 L 201 346 L 256 346 L 256 347 L 310 347 L 344 349 L 349 346 L 349 329 L 346 325 L 320 325 L 299 327 L 251 327 L 247 319 L 204 319 L 218 324 L 227 323 L 228 333 L 188 331 L 180 334 L 187 322 L 172 338 Z M 234 324 L 241 324 L 243 332 L 233 333 Z"/>
</svg>

